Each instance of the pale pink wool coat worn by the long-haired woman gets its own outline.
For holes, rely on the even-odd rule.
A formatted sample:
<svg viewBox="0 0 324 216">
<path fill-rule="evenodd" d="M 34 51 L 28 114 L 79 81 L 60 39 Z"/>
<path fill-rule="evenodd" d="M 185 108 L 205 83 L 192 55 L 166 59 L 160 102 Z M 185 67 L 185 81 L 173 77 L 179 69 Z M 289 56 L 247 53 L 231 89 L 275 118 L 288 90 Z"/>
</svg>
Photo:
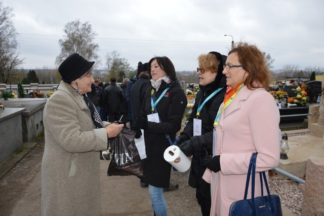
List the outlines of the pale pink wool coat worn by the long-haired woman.
<svg viewBox="0 0 324 216">
<path fill-rule="evenodd" d="M 214 152 L 214 155 L 220 155 L 221 171 L 207 169 L 203 176 L 206 182 L 211 183 L 211 215 L 228 215 L 230 205 L 244 198 L 252 153 L 258 152 L 256 171 L 278 166 L 279 121 L 275 100 L 263 88 L 249 90 L 244 86 L 222 112 L 216 128 Z M 268 172 L 266 174 L 268 178 Z M 259 175 L 256 175 L 255 185 L 255 197 L 261 196 Z"/>
</svg>

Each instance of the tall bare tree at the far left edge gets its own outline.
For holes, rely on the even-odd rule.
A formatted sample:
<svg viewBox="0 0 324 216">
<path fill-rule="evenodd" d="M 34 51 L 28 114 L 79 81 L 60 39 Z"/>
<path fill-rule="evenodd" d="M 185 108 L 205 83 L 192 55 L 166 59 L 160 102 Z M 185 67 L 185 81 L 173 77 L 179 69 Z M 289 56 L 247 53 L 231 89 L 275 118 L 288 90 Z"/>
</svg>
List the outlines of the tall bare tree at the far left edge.
<svg viewBox="0 0 324 216">
<path fill-rule="evenodd" d="M 16 52 L 16 29 L 11 20 L 12 8 L 4 7 L 0 2 L 0 83 L 8 83 L 16 79 L 17 67 L 23 63 L 19 52 Z"/>
</svg>

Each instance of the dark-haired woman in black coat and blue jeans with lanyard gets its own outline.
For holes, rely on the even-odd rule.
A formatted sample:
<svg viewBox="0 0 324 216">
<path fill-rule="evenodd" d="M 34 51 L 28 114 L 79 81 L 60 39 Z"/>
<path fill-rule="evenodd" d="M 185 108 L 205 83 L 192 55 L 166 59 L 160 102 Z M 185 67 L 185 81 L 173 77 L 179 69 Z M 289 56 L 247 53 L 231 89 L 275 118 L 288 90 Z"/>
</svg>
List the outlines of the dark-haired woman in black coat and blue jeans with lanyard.
<svg viewBox="0 0 324 216">
<path fill-rule="evenodd" d="M 141 115 L 134 122 L 133 129 L 137 131 L 136 137 L 141 135 L 139 128 L 144 130 L 147 156 L 144 176 L 145 182 L 149 184 L 152 210 L 156 215 L 167 215 L 163 188 L 169 188 L 171 165 L 163 156 L 170 146 L 166 134 L 170 135 L 172 141 L 175 140 L 176 133 L 181 128 L 187 98 L 177 81 L 174 65 L 168 57 L 154 57 L 148 62 L 148 67 L 150 87 L 145 92 Z M 155 122 L 151 118 L 154 117 L 152 114 L 158 116 Z"/>
</svg>

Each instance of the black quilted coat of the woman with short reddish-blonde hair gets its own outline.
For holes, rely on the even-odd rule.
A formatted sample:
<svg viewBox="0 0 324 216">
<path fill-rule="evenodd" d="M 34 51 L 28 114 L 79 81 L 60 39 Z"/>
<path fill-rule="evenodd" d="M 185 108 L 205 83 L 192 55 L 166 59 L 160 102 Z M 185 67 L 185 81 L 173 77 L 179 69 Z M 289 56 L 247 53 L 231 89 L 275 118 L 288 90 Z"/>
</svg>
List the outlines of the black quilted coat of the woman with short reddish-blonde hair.
<svg viewBox="0 0 324 216">
<path fill-rule="evenodd" d="M 215 54 L 216 52 L 213 52 Z M 220 58 L 220 54 L 217 53 L 217 59 Z M 202 176 L 206 170 L 204 166 L 204 159 L 206 153 L 208 155 L 213 155 L 213 125 L 216 118 L 220 104 L 224 100 L 224 95 L 226 93 L 226 78 L 222 74 L 223 64 L 225 64 L 226 57 L 222 58 L 222 61 L 219 63 L 219 69 L 215 81 L 206 86 L 200 86 L 200 90 L 197 92 L 195 104 L 192 107 L 192 113 L 190 119 L 181 132 L 180 137 L 182 141 L 191 139 L 194 148 L 194 154 L 192 155 L 191 160 L 191 170 L 189 175 L 189 185 L 192 188 L 196 188 L 200 184 Z M 224 62 L 224 63 L 223 63 Z M 199 119 L 201 119 L 201 134 L 200 136 L 193 136 L 193 119 L 197 118 L 197 109 L 199 102 L 200 104 L 205 101 L 205 99 L 211 95 L 216 89 L 223 88 L 216 95 L 210 98 L 203 109 L 200 111 Z M 184 139 L 185 137 L 185 139 Z M 204 148 L 203 146 L 207 146 Z"/>
</svg>

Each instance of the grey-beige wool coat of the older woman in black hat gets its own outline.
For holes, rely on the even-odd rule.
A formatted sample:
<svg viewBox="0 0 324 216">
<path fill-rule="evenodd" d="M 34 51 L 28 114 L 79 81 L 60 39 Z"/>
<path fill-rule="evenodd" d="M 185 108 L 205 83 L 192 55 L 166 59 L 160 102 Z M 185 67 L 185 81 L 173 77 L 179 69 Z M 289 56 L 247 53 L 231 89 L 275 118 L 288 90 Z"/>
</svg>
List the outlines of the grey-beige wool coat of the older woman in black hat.
<svg viewBox="0 0 324 216">
<path fill-rule="evenodd" d="M 96 129 L 84 99 L 63 81 L 45 105 L 44 126 L 42 215 L 99 215 L 105 128 Z"/>
</svg>

